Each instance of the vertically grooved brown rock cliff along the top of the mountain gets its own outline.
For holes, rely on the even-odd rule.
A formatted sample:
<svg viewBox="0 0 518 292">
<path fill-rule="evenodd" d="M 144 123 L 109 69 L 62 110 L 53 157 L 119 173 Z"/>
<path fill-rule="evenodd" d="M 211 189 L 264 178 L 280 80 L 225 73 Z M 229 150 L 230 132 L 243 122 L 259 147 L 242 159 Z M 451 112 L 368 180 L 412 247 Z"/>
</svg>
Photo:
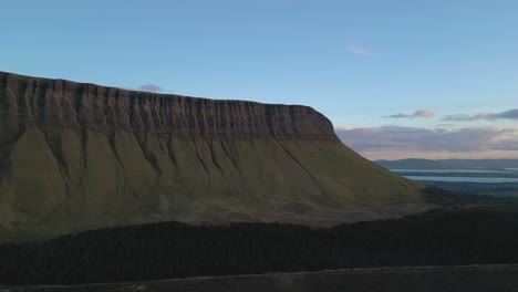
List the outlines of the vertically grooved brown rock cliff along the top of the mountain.
<svg viewBox="0 0 518 292">
<path fill-rule="evenodd" d="M 308 106 L 124 91 L 0 72 L 0 121 L 40 127 L 131 131 L 201 138 L 338 140 Z"/>
</svg>

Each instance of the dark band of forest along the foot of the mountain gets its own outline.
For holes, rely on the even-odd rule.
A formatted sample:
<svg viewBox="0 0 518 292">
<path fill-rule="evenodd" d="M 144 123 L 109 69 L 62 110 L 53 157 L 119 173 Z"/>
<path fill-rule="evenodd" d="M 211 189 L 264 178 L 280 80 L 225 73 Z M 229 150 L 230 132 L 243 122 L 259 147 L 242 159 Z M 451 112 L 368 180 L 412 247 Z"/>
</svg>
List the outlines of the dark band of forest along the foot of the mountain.
<svg viewBox="0 0 518 292">
<path fill-rule="evenodd" d="M 328 229 L 151 223 L 0 247 L 2 284 L 75 284 L 352 267 L 518 263 L 514 208 L 436 210 Z"/>
</svg>

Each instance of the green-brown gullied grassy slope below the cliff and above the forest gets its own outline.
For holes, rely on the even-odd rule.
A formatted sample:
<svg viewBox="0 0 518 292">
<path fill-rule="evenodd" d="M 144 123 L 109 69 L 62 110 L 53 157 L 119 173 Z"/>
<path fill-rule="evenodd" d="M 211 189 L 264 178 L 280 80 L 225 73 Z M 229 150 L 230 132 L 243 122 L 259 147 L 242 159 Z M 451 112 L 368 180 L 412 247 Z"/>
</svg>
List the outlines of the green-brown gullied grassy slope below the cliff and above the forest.
<svg viewBox="0 0 518 292">
<path fill-rule="evenodd" d="M 431 207 L 418 185 L 338 142 L 28 127 L 2 153 L 4 240 L 158 220 L 320 225 Z"/>
</svg>

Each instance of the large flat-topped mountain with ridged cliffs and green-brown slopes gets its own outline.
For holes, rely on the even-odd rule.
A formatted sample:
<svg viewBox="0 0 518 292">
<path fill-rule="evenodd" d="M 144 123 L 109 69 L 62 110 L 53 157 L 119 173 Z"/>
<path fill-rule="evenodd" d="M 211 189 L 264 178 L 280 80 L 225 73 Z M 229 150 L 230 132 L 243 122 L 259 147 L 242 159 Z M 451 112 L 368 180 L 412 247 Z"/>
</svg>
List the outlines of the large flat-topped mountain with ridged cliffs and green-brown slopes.
<svg viewBox="0 0 518 292">
<path fill-rule="evenodd" d="M 308 106 L 0 72 L 0 239 L 163 220 L 330 225 L 432 208 Z"/>
</svg>

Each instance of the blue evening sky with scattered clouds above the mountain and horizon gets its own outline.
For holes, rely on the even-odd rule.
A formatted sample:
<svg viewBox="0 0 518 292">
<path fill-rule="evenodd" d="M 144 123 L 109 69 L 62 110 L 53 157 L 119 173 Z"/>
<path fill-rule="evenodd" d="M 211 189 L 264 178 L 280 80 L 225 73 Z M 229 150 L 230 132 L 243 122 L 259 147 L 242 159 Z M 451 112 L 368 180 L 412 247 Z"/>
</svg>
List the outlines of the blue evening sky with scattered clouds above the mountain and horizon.
<svg viewBox="0 0 518 292">
<path fill-rule="evenodd" d="M 309 105 L 370 159 L 518 158 L 516 0 L 0 7 L 0 71 Z"/>
</svg>

